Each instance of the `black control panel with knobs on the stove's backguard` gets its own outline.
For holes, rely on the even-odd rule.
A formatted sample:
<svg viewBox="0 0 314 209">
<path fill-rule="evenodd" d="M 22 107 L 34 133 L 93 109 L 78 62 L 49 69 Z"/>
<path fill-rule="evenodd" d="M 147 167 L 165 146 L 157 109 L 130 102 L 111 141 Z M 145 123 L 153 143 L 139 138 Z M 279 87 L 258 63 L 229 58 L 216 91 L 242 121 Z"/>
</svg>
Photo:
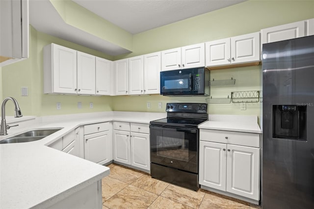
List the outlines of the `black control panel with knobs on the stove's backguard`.
<svg viewBox="0 0 314 209">
<path fill-rule="evenodd" d="M 206 103 L 167 103 L 166 112 L 207 113 Z"/>
</svg>

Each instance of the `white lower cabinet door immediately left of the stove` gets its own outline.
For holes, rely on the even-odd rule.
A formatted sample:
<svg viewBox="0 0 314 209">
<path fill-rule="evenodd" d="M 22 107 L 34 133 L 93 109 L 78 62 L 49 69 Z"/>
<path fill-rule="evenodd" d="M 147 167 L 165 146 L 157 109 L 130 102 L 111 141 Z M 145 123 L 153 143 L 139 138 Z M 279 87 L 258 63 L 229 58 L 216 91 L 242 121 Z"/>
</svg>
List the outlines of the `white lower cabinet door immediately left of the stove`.
<svg viewBox="0 0 314 209">
<path fill-rule="evenodd" d="M 150 170 L 149 134 L 131 132 L 131 165 Z"/>
</svg>

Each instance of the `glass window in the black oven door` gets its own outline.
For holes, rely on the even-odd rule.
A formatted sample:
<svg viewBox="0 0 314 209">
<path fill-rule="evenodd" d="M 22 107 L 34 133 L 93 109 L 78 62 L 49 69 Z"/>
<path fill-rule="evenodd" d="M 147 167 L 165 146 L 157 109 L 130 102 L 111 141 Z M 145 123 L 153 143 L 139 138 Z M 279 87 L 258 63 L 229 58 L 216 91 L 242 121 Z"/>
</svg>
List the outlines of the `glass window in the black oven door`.
<svg viewBox="0 0 314 209">
<path fill-rule="evenodd" d="M 157 156 L 188 162 L 188 140 L 183 137 L 157 136 Z"/>
</svg>

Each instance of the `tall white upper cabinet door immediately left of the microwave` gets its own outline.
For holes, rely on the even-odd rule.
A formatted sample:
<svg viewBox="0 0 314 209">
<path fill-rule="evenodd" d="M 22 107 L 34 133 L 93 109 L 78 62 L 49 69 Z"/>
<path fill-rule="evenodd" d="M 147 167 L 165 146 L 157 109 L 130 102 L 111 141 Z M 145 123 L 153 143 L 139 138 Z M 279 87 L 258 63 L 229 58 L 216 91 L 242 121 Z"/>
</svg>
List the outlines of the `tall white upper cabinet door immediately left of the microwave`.
<svg viewBox="0 0 314 209">
<path fill-rule="evenodd" d="M 160 94 L 161 52 L 144 55 L 144 94 Z"/>
</svg>

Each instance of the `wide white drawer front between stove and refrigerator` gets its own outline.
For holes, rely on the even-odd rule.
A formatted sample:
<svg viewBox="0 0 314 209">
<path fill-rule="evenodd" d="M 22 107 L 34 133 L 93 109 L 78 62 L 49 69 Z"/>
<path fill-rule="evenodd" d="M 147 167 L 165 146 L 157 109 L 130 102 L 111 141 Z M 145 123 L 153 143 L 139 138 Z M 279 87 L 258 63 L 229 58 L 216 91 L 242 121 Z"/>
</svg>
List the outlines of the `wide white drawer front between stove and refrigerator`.
<svg viewBox="0 0 314 209">
<path fill-rule="evenodd" d="M 260 147 L 260 134 L 235 131 L 200 130 L 200 140 L 248 147 Z"/>
</svg>

